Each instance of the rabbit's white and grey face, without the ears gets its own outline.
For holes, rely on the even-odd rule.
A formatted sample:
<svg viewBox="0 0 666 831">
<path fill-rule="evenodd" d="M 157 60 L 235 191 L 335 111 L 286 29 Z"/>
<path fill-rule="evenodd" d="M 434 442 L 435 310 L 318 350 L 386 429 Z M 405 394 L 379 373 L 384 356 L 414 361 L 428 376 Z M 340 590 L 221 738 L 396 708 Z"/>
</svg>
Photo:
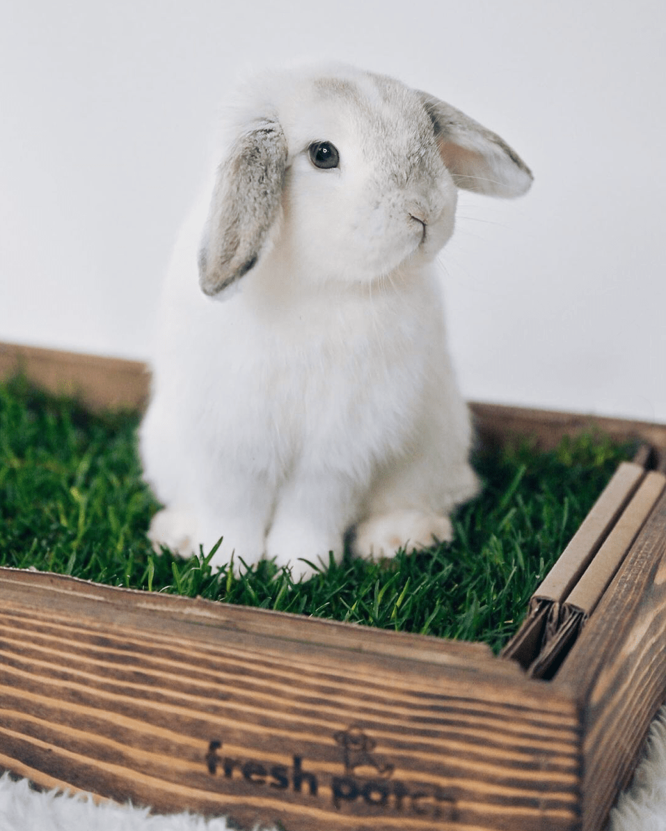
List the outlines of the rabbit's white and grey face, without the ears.
<svg viewBox="0 0 666 831">
<path fill-rule="evenodd" d="M 304 87 L 279 113 L 289 155 L 277 247 L 312 278 L 345 282 L 433 258 L 457 190 L 419 97 L 380 76 Z"/>
</svg>

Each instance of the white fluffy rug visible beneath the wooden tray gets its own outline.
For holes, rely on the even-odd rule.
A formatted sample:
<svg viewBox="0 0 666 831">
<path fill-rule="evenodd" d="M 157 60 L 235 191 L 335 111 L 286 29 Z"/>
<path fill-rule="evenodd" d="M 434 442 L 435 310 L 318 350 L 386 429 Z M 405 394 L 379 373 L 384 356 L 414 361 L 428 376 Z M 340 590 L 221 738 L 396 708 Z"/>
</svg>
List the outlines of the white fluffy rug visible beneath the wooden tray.
<svg viewBox="0 0 666 831">
<path fill-rule="evenodd" d="M 39 793 L 25 779 L 0 778 L 0 831 L 227 831 L 223 819 L 161 816 L 131 805 L 95 805 L 85 796 Z M 666 831 L 666 706 L 650 728 L 634 780 L 607 831 Z"/>
</svg>

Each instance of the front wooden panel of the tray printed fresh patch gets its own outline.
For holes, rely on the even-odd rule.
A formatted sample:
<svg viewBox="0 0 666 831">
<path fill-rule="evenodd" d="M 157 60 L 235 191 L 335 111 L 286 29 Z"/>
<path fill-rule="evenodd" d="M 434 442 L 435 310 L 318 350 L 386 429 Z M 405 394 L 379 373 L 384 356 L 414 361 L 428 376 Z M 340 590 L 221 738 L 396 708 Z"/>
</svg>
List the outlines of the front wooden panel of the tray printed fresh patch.
<svg viewBox="0 0 666 831">
<path fill-rule="evenodd" d="M 0 570 L 0 764 L 246 825 L 578 826 L 576 707 L 516 666 L 448 642 L 323 647 L 290 615 L 266 613 L 269 636 L 182 599 Z"/>
</svg>

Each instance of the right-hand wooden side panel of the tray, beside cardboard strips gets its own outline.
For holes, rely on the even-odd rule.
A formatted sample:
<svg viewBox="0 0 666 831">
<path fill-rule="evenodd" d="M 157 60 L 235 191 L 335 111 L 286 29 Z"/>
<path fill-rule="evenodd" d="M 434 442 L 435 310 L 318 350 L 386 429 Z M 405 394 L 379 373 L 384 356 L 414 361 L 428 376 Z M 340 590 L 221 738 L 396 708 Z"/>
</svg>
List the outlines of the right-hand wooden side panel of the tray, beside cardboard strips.
<svg viewBox="0 0 666 831">
<path fill-rule="evenodd" d="M 666 698 L 666 494 L 556 677 L 583 708 L 584 829 L 598 831 Z"/>
</svg>

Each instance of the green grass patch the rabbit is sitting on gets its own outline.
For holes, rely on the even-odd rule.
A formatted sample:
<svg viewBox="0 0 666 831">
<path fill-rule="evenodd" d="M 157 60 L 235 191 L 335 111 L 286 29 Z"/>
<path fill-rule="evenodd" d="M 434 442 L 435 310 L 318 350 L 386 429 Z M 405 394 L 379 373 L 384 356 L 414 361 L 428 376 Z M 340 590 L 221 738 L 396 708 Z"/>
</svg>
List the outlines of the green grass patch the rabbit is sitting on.
<svg viewBox="0 0 666 831">
<path fill-rule="evenodd" d="M 140 479 L 133 413 L 91 415 L 25 379 L 0 383 L 0 565 L 112 586 L 297 612 L 497 650 L 630 448 L 604 435 L 479 454 L 484 489 L 458 511 L 456 538 L 428 552 L 331 561 L 306 583 L 262 562 L 241 576 L 211 553 L 156 555 L 158 505 Z M 223 529 L 222 529 L 223 530 Z"/>
</svg>

